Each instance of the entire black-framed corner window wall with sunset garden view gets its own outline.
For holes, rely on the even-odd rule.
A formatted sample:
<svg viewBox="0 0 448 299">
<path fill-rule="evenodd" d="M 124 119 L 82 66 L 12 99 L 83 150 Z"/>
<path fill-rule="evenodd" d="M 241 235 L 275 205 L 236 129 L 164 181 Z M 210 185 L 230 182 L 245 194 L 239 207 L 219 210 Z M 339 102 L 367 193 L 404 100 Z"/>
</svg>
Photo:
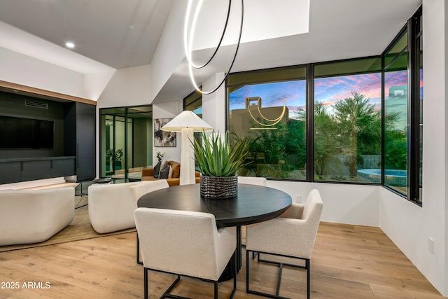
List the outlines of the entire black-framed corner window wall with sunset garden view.
<svg viewBox="0 0 448 299">
<path fill-rule="evenodd" d="M 422 204 L 422 38 L 420 8 L 380 56 L 231 74 L 228 127 L 251 141 L 239 175 L 381 183 Z"/>
</svg>

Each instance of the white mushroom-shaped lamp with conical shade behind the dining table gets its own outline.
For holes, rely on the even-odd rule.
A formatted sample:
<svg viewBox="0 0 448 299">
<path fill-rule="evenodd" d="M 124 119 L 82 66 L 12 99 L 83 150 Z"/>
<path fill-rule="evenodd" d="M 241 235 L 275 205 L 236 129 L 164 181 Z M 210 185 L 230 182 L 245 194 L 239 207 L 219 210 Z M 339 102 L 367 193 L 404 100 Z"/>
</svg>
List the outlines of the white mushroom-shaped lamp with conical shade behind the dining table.
<svg viewBox="0 0 448 299">
<path fill-rule="evenodd" d="M 180 132 L 182 135 L 180 185 L 196 183 L 195 153 L 191 146 L 194 132 L 211 131 L 213 127 L 193 111 L 183 111 L 161 128 L 162 131 Z"/>
</svg>

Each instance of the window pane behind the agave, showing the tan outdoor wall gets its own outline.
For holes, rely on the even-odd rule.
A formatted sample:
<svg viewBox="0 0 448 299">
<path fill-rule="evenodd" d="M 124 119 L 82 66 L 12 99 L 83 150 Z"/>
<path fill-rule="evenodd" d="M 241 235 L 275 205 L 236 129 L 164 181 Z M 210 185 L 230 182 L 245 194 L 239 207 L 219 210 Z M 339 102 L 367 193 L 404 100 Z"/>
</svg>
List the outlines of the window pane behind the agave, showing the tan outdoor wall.
<svg viewBox="0 0 448 299">
<path fill-rule="evenodd" d="M 305 77 L 305 67 L 229 76 L 229 129 L 250 140 L 239 175 L 306 179 Z"/>
</svg>

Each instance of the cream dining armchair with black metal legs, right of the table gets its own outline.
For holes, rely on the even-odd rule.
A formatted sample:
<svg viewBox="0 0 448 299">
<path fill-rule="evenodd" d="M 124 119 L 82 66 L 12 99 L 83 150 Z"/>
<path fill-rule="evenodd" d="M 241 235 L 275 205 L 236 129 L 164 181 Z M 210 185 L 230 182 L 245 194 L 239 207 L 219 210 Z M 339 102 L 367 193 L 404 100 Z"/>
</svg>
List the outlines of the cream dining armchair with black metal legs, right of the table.
<svg viewBox="0 0 448 299">
<path fill-rule="evenodd" d="M 249 251 L 258 252 L 258 261 L 275 263 L 260 259 L 260 253 L 269 253 L 277 256 L 298 258 L 304 260 L 304 265 L 292 265 L 288 263 L 277 263 L 283 265 L 299 267 L 307 270 L 307 298 L 310 294 L 310 273 L 309 259 L 314 246 L 319 221 L 321 219 L 323 202 L 318 190 L 311 190 L 305 204 L 292 204 L 279 218 L 269 221 L 248 225 L 246 227 L 246 292 L 257 295 L 264 295 L 271 298 L 279 298 L 278 279 L 276 295 L 252 291 L 249 288 Z M 283 298 L 283 297 L 282 297 Z"/>
</svg>

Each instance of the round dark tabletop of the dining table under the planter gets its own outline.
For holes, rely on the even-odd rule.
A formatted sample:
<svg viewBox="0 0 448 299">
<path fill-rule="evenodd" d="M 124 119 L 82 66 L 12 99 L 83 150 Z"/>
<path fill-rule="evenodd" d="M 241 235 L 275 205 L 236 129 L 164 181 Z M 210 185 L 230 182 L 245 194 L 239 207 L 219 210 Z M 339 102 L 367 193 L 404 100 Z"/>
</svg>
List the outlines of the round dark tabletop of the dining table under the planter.
<svg viewBox="0 0 448 299">
<path fill-rule="evenodd" d="M 228 200 L 200 197 L 200 184 L 173 186 L 140 197 L 139 207 L 200 211 L 214 214 L 218 228 L 267 221 L 283 214 L 291 197 L 265 186 L 238 184 L 238 196 Z"/>
</svg>

